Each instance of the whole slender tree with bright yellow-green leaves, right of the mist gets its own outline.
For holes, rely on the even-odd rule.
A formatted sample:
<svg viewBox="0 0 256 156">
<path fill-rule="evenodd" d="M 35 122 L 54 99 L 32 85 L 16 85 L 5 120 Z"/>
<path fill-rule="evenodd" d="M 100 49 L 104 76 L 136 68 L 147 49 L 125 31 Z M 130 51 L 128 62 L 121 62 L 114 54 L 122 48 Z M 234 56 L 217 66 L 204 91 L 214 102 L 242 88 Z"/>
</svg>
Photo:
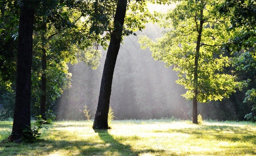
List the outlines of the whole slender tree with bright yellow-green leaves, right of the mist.
<svg viewBox="0 0 256 156">
<path fill-rule="evenodd" d="M 150 48 L 155 60 L 179 71 L 176 82 L 187 89 L 183 96 L 193 100 L 195 124 L 197 101 L 221 100 L 241 85 L 233 75 L 223 73 L 230 62 L 221 47 L 229 34 L 225 17 L 215 11 L 217 4 L 218 1 L 180 1 L 166 15 L 159 15 L 163 18 L 160 26 L 168 28 L 162 38 L 157 42 L 147 37 L 139 40 L 142 48 Z"/>
</svg>

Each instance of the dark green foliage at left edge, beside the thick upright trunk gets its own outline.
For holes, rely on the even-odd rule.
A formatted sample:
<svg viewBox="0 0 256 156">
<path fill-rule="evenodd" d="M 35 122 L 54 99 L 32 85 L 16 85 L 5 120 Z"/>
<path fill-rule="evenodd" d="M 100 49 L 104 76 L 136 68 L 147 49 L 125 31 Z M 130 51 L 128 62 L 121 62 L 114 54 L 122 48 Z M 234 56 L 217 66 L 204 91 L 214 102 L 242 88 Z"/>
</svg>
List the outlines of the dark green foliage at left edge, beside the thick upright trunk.
<svg viewBox="0 0 256 156">
<path fill-rule="evenodd" d="M 5 7 L 10 2 L 0 1 L 0 120 L 13 118 L 15 103 L 19 7 Z"/>
</svg>

